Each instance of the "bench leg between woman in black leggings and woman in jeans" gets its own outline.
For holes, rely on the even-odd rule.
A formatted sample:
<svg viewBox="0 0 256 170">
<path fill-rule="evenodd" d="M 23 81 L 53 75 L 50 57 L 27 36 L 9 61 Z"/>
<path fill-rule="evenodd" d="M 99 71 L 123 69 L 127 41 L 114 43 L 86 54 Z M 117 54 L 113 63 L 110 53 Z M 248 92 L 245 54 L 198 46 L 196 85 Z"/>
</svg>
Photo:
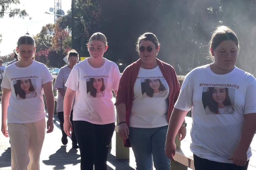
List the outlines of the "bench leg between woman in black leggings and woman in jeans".
<svg viewBox="0 0 256 170">
<path fill-rule="evenodd" d="M 130 149 L 125 148 L 123 145 L 123 140 L 116 132 L 116 159 L 129 159 Z"/>
</svg>

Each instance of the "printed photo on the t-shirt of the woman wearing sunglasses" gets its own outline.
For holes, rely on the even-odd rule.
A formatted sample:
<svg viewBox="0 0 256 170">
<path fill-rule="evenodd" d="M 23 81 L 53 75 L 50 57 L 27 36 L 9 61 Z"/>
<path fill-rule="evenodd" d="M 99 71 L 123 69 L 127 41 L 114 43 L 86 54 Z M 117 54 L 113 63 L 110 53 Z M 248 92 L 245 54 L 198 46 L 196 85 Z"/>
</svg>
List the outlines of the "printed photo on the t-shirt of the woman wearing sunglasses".
<svg viewBox="0 0 256 170">
<path fill-rule="evenodd" d="M 165 79 L 141 79 L 141 93 L 143 98 L 166 97 L 167 85 L 163 85 Z"/>
</svg>

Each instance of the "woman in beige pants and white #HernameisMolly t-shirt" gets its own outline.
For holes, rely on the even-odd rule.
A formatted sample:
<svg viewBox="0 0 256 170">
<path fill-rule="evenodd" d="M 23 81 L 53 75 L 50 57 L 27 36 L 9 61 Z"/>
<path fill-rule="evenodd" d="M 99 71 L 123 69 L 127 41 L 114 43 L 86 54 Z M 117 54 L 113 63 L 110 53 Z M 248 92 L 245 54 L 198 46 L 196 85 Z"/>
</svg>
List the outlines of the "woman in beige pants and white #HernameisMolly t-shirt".
<svg viewBox="0 0 256 170">
<path fill-rule="evenodd" d="M 35 50 L 34 38 L 30 35 L 21 36 L 17 43 L 20 60 L 6 67 L 1 84 L 4 88 L 1 131 L 4 136 L 10 136 L 12 170 L 40 169 L 40 153 L 45 138 L 43 91 L 48 111 L 47 133 L 53 131 L 53 77 L 44 64 L 33 60 Z M 17 80 L 28 78 L 34 79 L 37 95 L 17 100 L 14 85 Z"/>
</svg>

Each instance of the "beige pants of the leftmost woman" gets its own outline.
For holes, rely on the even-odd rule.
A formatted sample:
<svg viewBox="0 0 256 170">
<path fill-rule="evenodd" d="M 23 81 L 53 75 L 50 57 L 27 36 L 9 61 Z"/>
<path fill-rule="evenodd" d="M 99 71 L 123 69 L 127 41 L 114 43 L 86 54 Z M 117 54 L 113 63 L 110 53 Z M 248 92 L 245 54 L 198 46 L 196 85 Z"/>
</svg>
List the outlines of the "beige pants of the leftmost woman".
<svg viewBox="0 0 256 170">
<path fill-rule="evenodd" d="M 39 170 L 45 118 L 33 123 L 8 123 L 12 170 Z"/>
</svg>

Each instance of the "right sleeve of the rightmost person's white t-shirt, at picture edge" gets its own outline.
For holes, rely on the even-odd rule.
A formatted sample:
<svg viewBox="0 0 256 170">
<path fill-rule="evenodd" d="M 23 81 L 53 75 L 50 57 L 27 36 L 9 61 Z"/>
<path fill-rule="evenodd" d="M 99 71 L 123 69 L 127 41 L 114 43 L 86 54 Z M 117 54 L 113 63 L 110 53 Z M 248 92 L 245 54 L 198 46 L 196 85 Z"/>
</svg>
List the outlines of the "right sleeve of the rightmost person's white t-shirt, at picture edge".
<svg viewBox="0 0 256 170">
<path fill-rule="evenodd" d="M 248 75 L 248 85 L 246 88 L 244 114 L 256 113 L 256 80 L 252 75 Z"/>
</svg>

